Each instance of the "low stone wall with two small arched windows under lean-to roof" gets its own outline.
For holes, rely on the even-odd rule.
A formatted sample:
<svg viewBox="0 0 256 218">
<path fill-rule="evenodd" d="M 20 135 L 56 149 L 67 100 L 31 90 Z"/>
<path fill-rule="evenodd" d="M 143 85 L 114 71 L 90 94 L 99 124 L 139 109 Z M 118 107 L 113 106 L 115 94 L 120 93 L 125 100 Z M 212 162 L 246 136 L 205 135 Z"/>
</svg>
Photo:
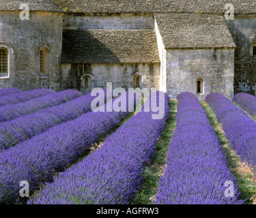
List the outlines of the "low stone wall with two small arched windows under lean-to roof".
<svg viewBox="0 0 256 218">
<path fill-rule="evenodd" d="M 83 78 L 91 78 L 91 89 L 106 88 L 106 82 L 113 83 L 113 89 L 134 87 L 134 76 L 142 77 L 142 85 L 159 89 L 160 64 L 109 63 L 109 64 L 65 64 L 61 65 L 61 89 L 83 91 Z"/>
</svg>

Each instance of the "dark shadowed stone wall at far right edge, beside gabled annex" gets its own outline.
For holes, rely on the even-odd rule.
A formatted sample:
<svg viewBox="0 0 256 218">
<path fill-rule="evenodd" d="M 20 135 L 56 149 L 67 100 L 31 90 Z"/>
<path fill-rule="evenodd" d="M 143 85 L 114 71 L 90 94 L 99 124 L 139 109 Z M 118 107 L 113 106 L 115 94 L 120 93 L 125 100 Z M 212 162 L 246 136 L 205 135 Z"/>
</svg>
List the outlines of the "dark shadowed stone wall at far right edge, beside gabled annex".
<svg viewBox="0 0 256 218">
<path fill-rule="evenodd" d="M 256 16 L 235 16 L 227 25 L 236 43 L 234 93 L 255 95 L 256 59 L 251 55 L 251 45 L 256 43 Z"/>
</svg>

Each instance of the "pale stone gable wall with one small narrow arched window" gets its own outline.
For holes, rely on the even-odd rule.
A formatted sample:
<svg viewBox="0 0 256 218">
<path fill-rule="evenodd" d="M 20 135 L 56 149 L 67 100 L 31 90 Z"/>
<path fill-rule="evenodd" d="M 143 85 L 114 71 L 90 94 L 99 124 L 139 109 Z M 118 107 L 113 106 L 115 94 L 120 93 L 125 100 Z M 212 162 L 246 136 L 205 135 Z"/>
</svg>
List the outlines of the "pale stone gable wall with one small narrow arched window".
<svg viewBox="0 0 256 218">
<path fill-rule="evenodd" d="M 167 49 L 167 93 L 175 98 L 183 91 L 203 99 L 218 92 L 233 97 L 233 49 Z M 203 91 L 197 94 L 197 80 Z"/>
</svg>

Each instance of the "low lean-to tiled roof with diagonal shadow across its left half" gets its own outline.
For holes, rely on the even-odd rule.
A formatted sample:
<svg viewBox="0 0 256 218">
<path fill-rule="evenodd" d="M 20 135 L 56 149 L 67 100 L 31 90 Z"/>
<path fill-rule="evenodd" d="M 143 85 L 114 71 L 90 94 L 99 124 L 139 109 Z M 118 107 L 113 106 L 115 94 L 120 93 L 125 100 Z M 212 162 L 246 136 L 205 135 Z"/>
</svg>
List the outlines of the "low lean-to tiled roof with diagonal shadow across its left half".
<svg viewBox="0 0 256 218">
<path fill-rule="evenodd" d="M 62 63 L 160 63 L 154 30 L 63 31 Z"/>
</svg>

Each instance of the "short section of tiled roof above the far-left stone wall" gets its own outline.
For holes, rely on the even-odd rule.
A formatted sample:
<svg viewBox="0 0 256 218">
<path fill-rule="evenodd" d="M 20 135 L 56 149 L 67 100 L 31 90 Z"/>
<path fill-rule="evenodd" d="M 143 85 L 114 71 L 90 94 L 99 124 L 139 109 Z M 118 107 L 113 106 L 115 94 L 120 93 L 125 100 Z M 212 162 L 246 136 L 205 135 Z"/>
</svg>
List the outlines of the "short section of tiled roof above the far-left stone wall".
<svg viewBox="0 0 256 218">
<path fill-rule="evenodd" d="M 53 0 L 0 0 L 0 11 L 20 11 L 20 5 L 27 3 L 30 11 L 63 12 Z"/>
</svg>

